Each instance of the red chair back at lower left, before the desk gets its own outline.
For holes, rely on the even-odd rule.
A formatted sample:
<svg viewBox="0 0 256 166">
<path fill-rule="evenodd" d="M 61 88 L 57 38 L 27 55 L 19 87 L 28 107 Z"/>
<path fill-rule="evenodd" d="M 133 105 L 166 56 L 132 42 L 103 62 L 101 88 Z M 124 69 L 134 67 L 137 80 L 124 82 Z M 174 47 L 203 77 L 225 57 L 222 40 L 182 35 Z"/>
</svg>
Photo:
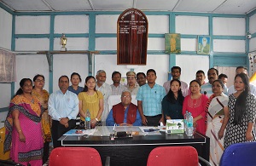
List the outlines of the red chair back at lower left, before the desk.
<svg viewBox="0 0 256 166">
<path fill-rule="evenodd" d="M 99 152 L 91 147 L 56 147 L 50 152 L 49 166 L 102 166 Z"/>
</svg>

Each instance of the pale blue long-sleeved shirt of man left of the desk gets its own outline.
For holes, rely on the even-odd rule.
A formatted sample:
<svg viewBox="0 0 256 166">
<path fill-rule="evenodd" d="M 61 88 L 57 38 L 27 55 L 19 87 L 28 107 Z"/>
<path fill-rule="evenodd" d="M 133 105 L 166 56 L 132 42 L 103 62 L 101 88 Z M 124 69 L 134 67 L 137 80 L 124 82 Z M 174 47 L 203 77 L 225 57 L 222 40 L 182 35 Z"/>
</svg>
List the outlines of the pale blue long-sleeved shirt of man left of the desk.
<svg viewBox="0 0 256 166">
<path fill-rule="evenodd" d="M 58 90 L 49 95 L 48 110 L 49 116 L 56 121 L 60 121 L 61 117 L 76 119 L 79 114 L 79 97 L 69 90 L 65 94 Z"/>
</svg>

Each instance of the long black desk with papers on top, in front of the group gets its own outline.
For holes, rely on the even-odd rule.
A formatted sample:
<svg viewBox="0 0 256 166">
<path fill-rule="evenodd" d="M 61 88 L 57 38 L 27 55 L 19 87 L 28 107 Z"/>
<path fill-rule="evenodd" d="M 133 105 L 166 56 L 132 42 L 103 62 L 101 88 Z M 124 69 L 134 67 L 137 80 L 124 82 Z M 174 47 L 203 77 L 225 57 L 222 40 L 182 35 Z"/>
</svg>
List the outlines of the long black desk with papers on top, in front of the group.
<svg viewBox="0 0 256 166">
<path fill-rule="evenodd" d="M 108 156 L 112 166 L 147 165 L 149 153 L 158 146 L 194 146 L 199 156 L 209 161 L 210 139 L 199 133 L 188 137 L 185 134 L 160 132 L 160 135 L 145 135 L 140 132 L 140 135 L 135 135 L 132 138 L 110 140 L 109 134 L 112 129 L 113 127 L 97 127 L 94 135 L 63 135 L 59 141 L 61 141 L 61 146 L 90 146 L 95 148 L 102 157 L 102 165 Z M 138 127 L 126 127 L 125 130 L 138 131 L 140 129 Z"/>
</svg>

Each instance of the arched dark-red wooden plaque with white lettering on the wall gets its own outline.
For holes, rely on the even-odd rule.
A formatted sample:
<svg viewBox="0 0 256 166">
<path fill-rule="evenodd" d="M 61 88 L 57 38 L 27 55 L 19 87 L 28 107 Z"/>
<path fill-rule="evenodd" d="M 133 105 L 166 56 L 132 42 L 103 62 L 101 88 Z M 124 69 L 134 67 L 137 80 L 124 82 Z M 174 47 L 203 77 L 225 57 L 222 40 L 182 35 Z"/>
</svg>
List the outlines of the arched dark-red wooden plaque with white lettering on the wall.
<svg viewBox="0 0 256 166">
<path fill-rule="evenodd" d="M 126 9 L 117 21 L 117 64 L 146 65 L 148 19 L 139 9 Z"/>
</svg>

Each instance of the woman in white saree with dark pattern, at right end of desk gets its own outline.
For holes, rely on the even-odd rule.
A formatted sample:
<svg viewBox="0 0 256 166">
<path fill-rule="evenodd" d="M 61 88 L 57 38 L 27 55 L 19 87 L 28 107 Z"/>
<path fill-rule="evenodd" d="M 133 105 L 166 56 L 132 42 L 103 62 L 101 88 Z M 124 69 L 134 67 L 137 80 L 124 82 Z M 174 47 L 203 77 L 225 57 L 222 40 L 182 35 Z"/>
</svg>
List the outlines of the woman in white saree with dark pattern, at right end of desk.
<svg viewBox="0 0 256 166">
<path fill-rule="evenodd" d="M 229 121 L 229 97 L 224 93 L 224 83 L 212 83 L 212 95 L 207 102 L 207 132 L 210 138 L 210 163 L 218 165 L 224 152 L 224 131 Z"/>
</svg>

